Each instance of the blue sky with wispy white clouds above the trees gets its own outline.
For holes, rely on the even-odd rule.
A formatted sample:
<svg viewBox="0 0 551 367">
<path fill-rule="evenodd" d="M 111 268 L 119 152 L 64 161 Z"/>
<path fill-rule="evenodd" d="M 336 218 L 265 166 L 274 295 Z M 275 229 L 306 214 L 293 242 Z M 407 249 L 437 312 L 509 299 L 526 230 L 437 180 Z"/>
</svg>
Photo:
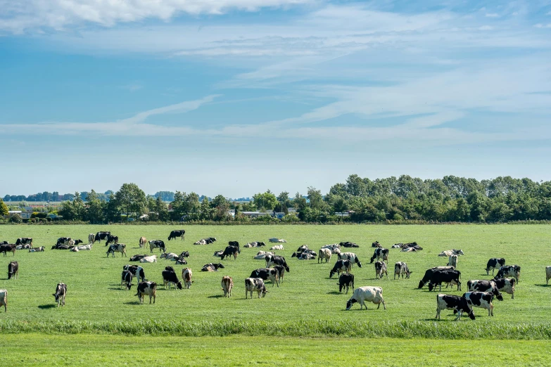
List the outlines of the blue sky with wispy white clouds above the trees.
<svg viewBox="0 0 551 367">
<path fill-rule="evenodd" d="M 551 1 L 0 0 L 0 85 L 0 195 L 551 179 Z"/>
</svg>

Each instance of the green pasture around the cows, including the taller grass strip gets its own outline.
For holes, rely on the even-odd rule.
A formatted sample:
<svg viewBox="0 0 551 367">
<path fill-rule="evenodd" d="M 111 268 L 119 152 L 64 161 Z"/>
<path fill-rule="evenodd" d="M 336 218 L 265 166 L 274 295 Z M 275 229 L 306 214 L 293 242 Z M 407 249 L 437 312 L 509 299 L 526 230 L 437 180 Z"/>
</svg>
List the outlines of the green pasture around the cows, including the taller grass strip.
<svg viewBox="0 0 551 367">
<path fill-rule="evenodd" d="M 388 328 L 381 336 L 399 337 L 532 337 L 551 338 L 550 295 L 545 285 L 545 266 L 551 264 L 549 239 L 551 227 L 545 225 L 456 225 L 456 226 L 182 226 L 186 240 L 166 241 L 169 226 L 1 226 L 0 240 L 32 237 L 34 246 L 46 246 L 46 252 L 17 251 L 15 256 L 0 256 L 0 288 L 8 290 L 8 312 L 0 312 L 0 330 L 39 330 L 68 333 L 167 333 L 178 335 L 227 335 L 235 333 L 281 335 L 355 335 L 367 336 L 379 326 Z M 120 273 L 127 258 L 115 254 L 106 257 L 103 243 L 93 250 L 68 252 L 50 250 L 61 236 L 81 238 L 87 243 L 88 233 L 109 230 L 127 244 L 128 256 L 149 253 L 139 249 L 138 239 L 163 239 L 170 252 L 189 250 L 189 264 L 194 271 L 190 290 L 158 290 L 156 304 L 138 304 L 135 284 L 131 291 L 120 290 Z M 212 245 L 193 245 L 195 240 L 214 236 Z M 244 278 L 251 271 L 265 266 L 254 260 L 258 249 L 243 248 L 241 255 L 222 261 L 225 269 L 217 273 L 202 273 L 203 264 L 217 262 L 215 250 L 222 250 L 229 240 L 241 245 L 248 241 L 279 237 L 288 240 L 284 255 L 291 271 L 286 273 L 280 288 L 268 282 L 270 291 L 261 300 L 245 300 Z M 353 268 L 355 286 L 381 285 L 387 310 L 360 311 L 355 304 L 345 311 L 349 295 L 339 294 L 337 278 L 329 279 L 331 264 L 301 261 L 291 258 L 300 245 L 318 250 L 322 245 L 351 240 L 360 248 L 350 249 L 362 260 L 362 268 Z M 375 279 L 374 266 L 369 264 L 374 240 L 390 247 L 398 242 L 417 241 L 424 250 L 404 253 L 391 249 L 389 277 Z M 267 245 L 269 248 L 269 245 Z M 486 262 L 490 257 L 505 257 L 507 264 L 521 266 L 520 283 L 515 300 L 504 294 L 505 300 L 495 300 L 495 316 L 488 317 L 483 309 L 475 309 L 476 321 L 467 318 L 452 322 L 451 311 L 442 312 L 442 321 L 434 321 L 436 292 L 426 287 L 417 290 L 419 279 L 431 266 L 445 265 L 438 257 L 441 250 L 461 248 L 462 291 L 447 290 L 462 295 L 469 279 L 489 279 Z M 158 250 L 156 254 L 159 255 Z M 11 260 L 20 264 L 20 278 L 7 281 L 6 269 Z M 409 280 L 393 280 L 393 264 L 407 262 L 413 271 Z M 162 284 L 161 271 L 174 262 L 159 259 L 156 264 L 143 264 L 146 278 Z M 184 266 L 175 266 L 181 274 Z M 490 273 L 491 274 L 491 273 Z M 224 299 L 220 289 L 222 276 L 234 278 L 233 297 Z M 66 306 L 53 307 L 56 283 L 68 285 Z M 443 290 L 444 292 L 444 290 Z M 146 300 L 148 302 L 148 300 Z M 144 327 L 144 322 L 147 325 Z M 132 327 L 125 329 L 128 325 Z M 511 336 L 512 335 L 512 336 Z"/>
</svg>

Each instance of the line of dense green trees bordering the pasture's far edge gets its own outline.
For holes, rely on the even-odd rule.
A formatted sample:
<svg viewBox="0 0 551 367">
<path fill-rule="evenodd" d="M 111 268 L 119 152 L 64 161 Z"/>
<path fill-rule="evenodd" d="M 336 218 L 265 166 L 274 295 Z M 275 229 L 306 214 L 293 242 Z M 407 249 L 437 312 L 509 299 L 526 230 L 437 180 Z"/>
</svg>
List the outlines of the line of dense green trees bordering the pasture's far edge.
<svg viewBox="0 0 551 367">
<path fill-rule="evenodd" d="M 65 220 L 92 224 L 128 220 L 278 221 L 270 216 L 250 219 L 243 214 L 248 211 L 282 212 L 281 221 L 318 223 L 551 220 L 551 182 L 510 176 L 481 181 L 457 176 L 423 180 L 407 175 L 371 180 L 353 174 L 324 195 L 314 187 L 308 187 L 305 195 L 294 196 L 267 190 L 253 195 L 250 202 L 235 202 L 223 195 L 208 198 L 193 192 L 160 193 L 148 196 L 136 184 L 123 184 L 109 195 L 91 190 L 82 198 L 75 193 L 61 203 L 57 214 Z M 172 196 L 170 202 L 163 200 L 167 196 Z M 294 210 L 290 213 L 289 208 Z"/>
</svg>

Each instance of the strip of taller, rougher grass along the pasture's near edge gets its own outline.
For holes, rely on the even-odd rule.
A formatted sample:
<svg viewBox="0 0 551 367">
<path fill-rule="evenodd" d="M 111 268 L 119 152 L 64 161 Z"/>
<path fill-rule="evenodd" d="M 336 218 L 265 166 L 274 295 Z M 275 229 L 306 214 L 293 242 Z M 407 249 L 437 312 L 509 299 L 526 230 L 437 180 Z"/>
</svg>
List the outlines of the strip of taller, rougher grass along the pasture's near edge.
<svg viewBox="0 0 551 367">
<path fill-rule="evenodd" d="M 551 340 L 551 322 L 484 323 L 471 321 L 0 321 L 0 333 L 88 333 L 122 335 L 228 336 L 279 335 L 291 337 L 398 337 L 439 339 Z"/>
</svg>

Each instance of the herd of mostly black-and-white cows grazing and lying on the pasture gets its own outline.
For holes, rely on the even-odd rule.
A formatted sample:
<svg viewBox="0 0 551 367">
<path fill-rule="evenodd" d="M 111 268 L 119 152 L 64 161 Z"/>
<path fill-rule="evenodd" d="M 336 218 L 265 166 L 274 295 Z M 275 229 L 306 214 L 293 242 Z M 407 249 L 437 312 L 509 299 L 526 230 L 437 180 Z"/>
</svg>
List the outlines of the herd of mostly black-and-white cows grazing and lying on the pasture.
<svg viewBox="0 0 551 367">
<path fill-rule="evenodd" d="M 175 238 L 181 238 L 184 240 L 185 231 L 177 230 L 171 231 L 168 240 Z M 126 245 L 118 243 L 118 236 L 113 236 L 110 232 L 101 231 L 98 233 L 90 233 L 88 236 L 89 243 L 87 245 L 80 245 L 82 240 L 73 240 L 72 238 L 62 237 L 58 238 L 56 245 L 53 245 L 53 250 L 70 250 L 73 252 L 78 252 L 82 250 L 91 250 L 94 243 L 104 240 L 106 246 L 108 246 L 107 256 L 115 256 L 115 252 L 120 252 L 121 256 L 126 256 Z M 195 245 L 208 245 L 214 243 L 216 238 L 209 237 L 198 240 Z M 270 238 L 270 242 L 276 243 L 285 243 L 285 240 L 280 240 L 278 238 Z M 187 264 L 186 257 L 189 257 L 189 252 L 184 251 L 180 255 L 174 253 L 166 252 L 166 246 L 163 240 L 150 240 L 147 241 L 145 237 L 139 238 L 139 247 L 145 247 L 146 244 L 149 244 L 150 254 L 153 253 L 153 250 L 159 249 L 160 252 L 163 252 L 160 255 L 161 258 L 167 260 L 175 261 L 176 264 Z M 265 243 L 258 241 L 247 243 L 243 247 L 264 247 Z M 335 262 L 333 268 L 329 272 L 329 278 L 332 278 L 335 274 L 338 275 L 338 290 L 342 292 L 346 289 L 346 294 L 348 294 L 349 288 L 353 288 L 353 295 L 350 297 L 346 304 L 346 309 L 349 310 L 354 303 L 360 303 L 360 309 L 367 305 L 365 302 L 373 302 L 377 304 L 377 309 L 379 309 L 381 303 L 383 304 L 384 309 L 386 309 L 386 304 L 383 298 L 383 289 L 376 286 L 363 286 L 360 288 L 354 288 L 354 275 L 351 273 L 353 266 L 357 265 L 362 267 L 360 259 L 354 252 L 341 252 L 342 247 L 359 247 L 355 243 L 351 242 L 342 242 L 338 244 L 324 245 L 319 249 L 318 252 L 310 250 L 308 246 L 303 245 L 298 248 L 296 252 L 293 252 L 292 257 L 297 259 L 315 259 L 317 257 L 318 263 L 325 262 L 328 263 L 331 261 L 331 257 L 336 255 L 338 260 Z M 376 274 L 376 279 L 381 279 L 384 276 L 388 279 L 387 264 L 388 264 L 388 249 L 381 246 L 380 243 L 375 242 L 372 244 L 372 247 L 375 247 L 373 256 L 370 259 L 371 263 L 374 263 L 374 269 Z M 417 243 L 400 243 L 393 245 L 393 248 L 401 248 L 403 252 L 412 252 L 423 250 L 422 247 L 419 247 Z M 42 247 L 32 247 L 32 238 L 18 238 L 15 241 L 15 244 L 7 243 L 6 241 L 0 242 L 0 252 L 4 253 L 6 256 L 7 252 L 12 252 L 15 256 L 15 250 L 29 250 L 30 252 L 42 252 L 44 251 L 44 246 Z M 283 245 L 274 245 L 270 250 L 283 250 Z M 237 241 L 229 241 L 227 247 L 224 250 L 216 251 L 215 257 L 220 257 L 224 259 L 225 257 L 233 257 L 236 259 L 237 255 L 241 253 L 241 248 Z M 437 266 L 431 269 L 427 269 L 424 273 L 423 278 L 419 281 L 419 289 L 423 288 L 424 285 L 428 285 L 429 292 L 433 289 L 436 289 L 438 286 L 439 292 L 442 290 L 442 283 L 446 283 L 446 288 L 448 286 L 457 286 L 457 290 L 461 290 L 461 272 L 457 270 L 457 259 L 460 255 L 464 255 L 462 250 L 446 250 L 441 252 L 438 256 L 448 257 L 447 266 Z M 253 292 L 256 292 L 258 298 L 265 297 L 267 293 L 265 281 L 270 281 L 272 287 L 279 284 L 283 281 L 285 272 L 289 272 L 289 265 L 286 262 L 286 259 L 283 256 L 274 255 L 274 252 L 260 251 L 254 257 L 255 259 L 265 259 L 266 266 L 265 268 L 255 269 L 251 272 L 251 276 L 245 279 L 245 297 L 248 298 L 248 295 L 253 297 Z M 375 261 L 376 260 L 376 261 Z M 130 262 L 141 262 L 141 263 L 151 263 L 157 262 L 156 255 L 134 255 L 129 259 Z M 219 269 L 224 269 L 224 265 L 221 263 L 209 263 L 205 264 L 201 271 L 218 271 Z M 453 310 L 454 314 L 457 314 L 456 320 L 460 320 L 462 313 L 465 312 L 469 318 L 475 319 L 473 307 L 480 307 L 488 310 L 488 316 L 493 316 L 493 300 L 494 297 L 502 301 L 503 296 L 502 292 L 512 295 L 514 299 L 514 289 L 515 285 L 519 282 L 520 277 L 520 266 L 518 265 L 505 265 L 505 259 L 503 258 L 492 258 L 488 260 L 486 264 L 486 273 L 489 275 L 490 270 L 492 271 L 492 276 L 494 271 L 498 269 L 497 275 L 491 280 L 470 280 L 467 281 L 468 291 L 465 292 L 462 296 L 458 295 L 444 295 L 438 294 L 436 297 L 436 318 L 440 318 L 441 310 L 448 309 Z M 8 279 L 18 278 L 19 265 L 18 262 L 10 262 L 8 264 Z M 547 266 L 545 269 L 547 283 L 551 278 L 551 266 Z M 401 278 L 410 278 L 409 267 L 405 262 L 396 262 L 394 265 L 394 279 L 398 276 L 398 279 Z M 173 285 L 177 289 L 190 288 L 191 284 L 194 283 L 192 280 L 193 273 L 191 269 L 184 267 L 182 269 L 182 281 L 179 280 L 178 275 L 175 269 L 172 266 L 165 266 L 165 269 L 162 271 L 161 275 L 163 276 L 163 285 L 168 287 L 170 290 Z M 125 265 L 123 266 L 121 273 L 121 283 L 120 287 L 125 286 L 125 289 L 130 290 L 132 288 L 132 279 L 137 278 L 137 296 L 139 297 L 139 302 L 144 302 L 144 297 L 149 296 L 149 303 L 156 300 L 156 290 L 157 283 L 148 281 L 145 278 L 144 268 L 139 265 Z M 221 287 L 224 292 L 224 297 L 231 297 L 232 288 L 233 288 L 233 279 L 229 276 L 224 276 L 222 278 Z M 55 300 L 58 304 L 65 306 L 65 295 L 67 294 L 67 285 L 64 283 L 58 283 L 56 285 L 56 292 L 53 294 Z M 0 290 L 0 306 L 4 305 L 4 311 L 7 311 L 7 290 Z"/>
</svg>

